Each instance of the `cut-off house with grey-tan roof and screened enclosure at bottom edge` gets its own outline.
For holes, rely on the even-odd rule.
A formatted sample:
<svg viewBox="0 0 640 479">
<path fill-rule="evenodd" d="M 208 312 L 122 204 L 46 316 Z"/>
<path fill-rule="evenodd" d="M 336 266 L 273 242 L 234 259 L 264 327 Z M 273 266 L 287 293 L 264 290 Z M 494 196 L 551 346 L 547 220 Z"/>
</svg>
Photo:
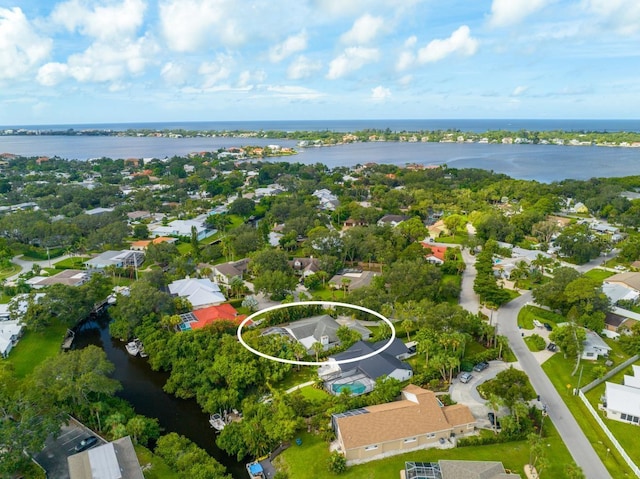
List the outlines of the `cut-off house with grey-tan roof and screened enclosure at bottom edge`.
<svg viewBox="0 0 640 479">
<path fill-rule="evenodd" d="M 517 479 L 499 461 L 405 462 L 401 479 Z"/>
</svg>

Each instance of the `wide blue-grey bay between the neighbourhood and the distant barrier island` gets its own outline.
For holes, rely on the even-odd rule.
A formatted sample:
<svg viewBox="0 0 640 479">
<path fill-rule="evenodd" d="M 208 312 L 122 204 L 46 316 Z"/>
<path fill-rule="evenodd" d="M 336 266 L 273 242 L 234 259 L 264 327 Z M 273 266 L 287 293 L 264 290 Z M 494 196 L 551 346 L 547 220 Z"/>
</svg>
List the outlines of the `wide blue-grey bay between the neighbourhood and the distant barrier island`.
<svg viewBox="0 0 640 479">
<path fill-rule="evenodd" d="M 58 156 L 66 159 L 167 158 L 231 146 L 277 143 L 295 147 L 292 140 L 268 138 L 136 138 L 91 136 L 2 136 L 0 152 L 23 156 Z M 329 168 L 389 163 L 404 166 L 446 164 L 455 168 L 481 168 L 512 178 L 544 183 L 568 178 L 640 175 L 640 148 L 503 145 L 480 143 L 350 143 L 299 149 L 292 157 L 271 161 L 322 163 Z"/>
</svg>

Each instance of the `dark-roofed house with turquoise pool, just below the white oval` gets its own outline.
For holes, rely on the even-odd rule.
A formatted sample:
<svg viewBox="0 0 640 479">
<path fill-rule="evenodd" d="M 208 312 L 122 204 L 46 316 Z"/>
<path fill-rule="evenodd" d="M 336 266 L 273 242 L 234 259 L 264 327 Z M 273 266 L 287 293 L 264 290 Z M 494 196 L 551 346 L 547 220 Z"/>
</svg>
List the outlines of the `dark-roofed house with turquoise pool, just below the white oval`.
<svg viewBox="0 0 640 479">
<path fill-rule="evenodd" d="M 379 354 L 350 363 L 337 364 L 338 361 L 355 359 L 381 349 L 387 341 L 369 343 L 358 341 L 346 351 L 330 356 L 328 361 L 318 369 L 318 376 L 325 384 L 325 389 L 333 394 L 340 394 L 347 389 L 358 395 L 373 391 L 375 382 L 380 378 L 392 377 L 398 381 L 406 381 L 413 376 L 408 363 L 400 360 L 410 355 L 407 346 L 398 338 Z"/>
</svg>

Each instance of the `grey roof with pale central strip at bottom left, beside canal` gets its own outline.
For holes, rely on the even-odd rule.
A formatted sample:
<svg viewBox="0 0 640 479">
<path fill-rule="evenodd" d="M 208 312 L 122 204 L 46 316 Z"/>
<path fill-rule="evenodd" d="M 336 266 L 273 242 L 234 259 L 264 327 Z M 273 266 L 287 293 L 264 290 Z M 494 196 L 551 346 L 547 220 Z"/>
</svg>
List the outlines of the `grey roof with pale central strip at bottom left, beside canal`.
<svg viewBox="0 0 640 479">
<path fill-rule="evenodd" d="M 70 479 L 144 479 L 130 436 L 67 458 Z"/>
</svg>

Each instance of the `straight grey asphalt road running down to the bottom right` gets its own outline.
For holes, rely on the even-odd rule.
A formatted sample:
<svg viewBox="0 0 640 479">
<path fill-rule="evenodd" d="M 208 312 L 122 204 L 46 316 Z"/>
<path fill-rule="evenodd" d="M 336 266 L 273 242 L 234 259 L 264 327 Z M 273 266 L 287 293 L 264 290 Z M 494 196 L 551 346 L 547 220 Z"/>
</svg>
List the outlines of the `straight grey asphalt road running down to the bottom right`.
<svg viewBox="0 0 640 479">
<path fill-rule="evenodd" d="M 531 301 L 531 293 L 526 292 L 498 310 L 499 333 L 508 338 L 520 366 L 529 376 L 533 388 L 540 395 L 540 400 L 547 405 L 549 418 L 587 479 L 609 478 L 611 477 L 609 471 L 522 339 L 518 329 L 518 311 L 529 301 Z"/>
</svg>

